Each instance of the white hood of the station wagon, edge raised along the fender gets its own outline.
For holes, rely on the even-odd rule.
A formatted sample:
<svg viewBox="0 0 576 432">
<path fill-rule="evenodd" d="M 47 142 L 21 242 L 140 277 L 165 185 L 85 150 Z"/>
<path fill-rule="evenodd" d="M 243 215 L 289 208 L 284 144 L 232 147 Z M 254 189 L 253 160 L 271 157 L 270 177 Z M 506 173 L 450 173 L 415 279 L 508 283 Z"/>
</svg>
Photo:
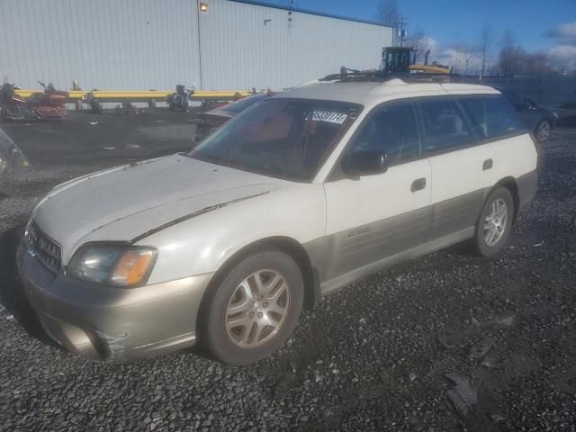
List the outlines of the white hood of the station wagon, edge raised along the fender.
<svg viewBox="0 0 576 432">
<path fill-rule="evenodd" d="M 33 219 L 62 246 L 66 263 L 88 241 L 133 241 L 193 217 L 292 182 L 173 155 L 85 175 L 60 184 Z"/>
</svg>

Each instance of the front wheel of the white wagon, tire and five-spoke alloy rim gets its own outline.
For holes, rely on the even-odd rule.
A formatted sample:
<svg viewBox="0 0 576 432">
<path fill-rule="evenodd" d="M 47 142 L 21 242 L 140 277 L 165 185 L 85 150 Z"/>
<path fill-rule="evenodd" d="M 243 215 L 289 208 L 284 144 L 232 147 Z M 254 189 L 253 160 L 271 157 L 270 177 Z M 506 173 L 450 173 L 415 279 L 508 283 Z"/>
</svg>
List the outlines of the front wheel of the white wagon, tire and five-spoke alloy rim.
<svg viewBox="0 0 576 432">
<path fill-rule="evenodd" d="M 303 298 L 302 273 L 293 258 L 275 248 L 257 249 L 206 293 L 200 341 L 223 363 L 255 363 L 293 332 Z"/>
</svg>

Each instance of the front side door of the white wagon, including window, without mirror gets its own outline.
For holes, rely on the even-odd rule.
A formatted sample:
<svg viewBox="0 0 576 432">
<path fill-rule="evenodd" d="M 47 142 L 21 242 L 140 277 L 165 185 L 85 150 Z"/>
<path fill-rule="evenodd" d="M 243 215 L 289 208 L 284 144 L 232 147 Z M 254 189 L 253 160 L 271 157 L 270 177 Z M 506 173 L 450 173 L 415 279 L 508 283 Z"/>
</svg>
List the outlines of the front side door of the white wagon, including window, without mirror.
<svg viewBox="0 0 576 432">
<path fill-rule="evenodd" d="M 428 234 L 431 176 L 421 157 L 419 128 L 412 103 L 374 108 L 345 154 L 383 150 L 388 170 L 379 175 L 343 178 L 325 184 L 328 280 L 391 257 L 422 243 Z"/>
</svg>

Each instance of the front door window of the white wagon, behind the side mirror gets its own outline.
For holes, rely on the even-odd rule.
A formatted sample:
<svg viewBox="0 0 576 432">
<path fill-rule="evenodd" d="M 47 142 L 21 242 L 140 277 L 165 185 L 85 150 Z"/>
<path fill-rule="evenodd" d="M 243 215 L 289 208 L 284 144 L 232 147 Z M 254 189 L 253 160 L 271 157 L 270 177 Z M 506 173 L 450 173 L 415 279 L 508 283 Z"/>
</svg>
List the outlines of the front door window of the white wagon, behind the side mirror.
<svg viewBox="0 0 576 432">
<path fill-rule="evenodd" d="M 418 158 L 418 123 L 412 104 L 392 104 L 374 110 L 361 126 L 350 151 L 383 151 L 390 166 Z"/>
</svg>

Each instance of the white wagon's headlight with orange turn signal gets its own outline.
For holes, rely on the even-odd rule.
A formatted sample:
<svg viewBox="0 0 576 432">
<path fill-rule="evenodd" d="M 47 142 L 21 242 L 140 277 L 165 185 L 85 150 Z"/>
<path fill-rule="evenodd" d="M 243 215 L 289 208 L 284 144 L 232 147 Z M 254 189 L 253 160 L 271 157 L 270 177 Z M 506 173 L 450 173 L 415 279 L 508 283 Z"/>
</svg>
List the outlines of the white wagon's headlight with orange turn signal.
<svg viewBox="0 0 576 432">
<path fill-rule="evenodd" d="M 99 284 L 138 286 L 146 284 L 156 256 L 153 247 L 85 245 L 72 257 L 67 275 Z"/>
</svg>

